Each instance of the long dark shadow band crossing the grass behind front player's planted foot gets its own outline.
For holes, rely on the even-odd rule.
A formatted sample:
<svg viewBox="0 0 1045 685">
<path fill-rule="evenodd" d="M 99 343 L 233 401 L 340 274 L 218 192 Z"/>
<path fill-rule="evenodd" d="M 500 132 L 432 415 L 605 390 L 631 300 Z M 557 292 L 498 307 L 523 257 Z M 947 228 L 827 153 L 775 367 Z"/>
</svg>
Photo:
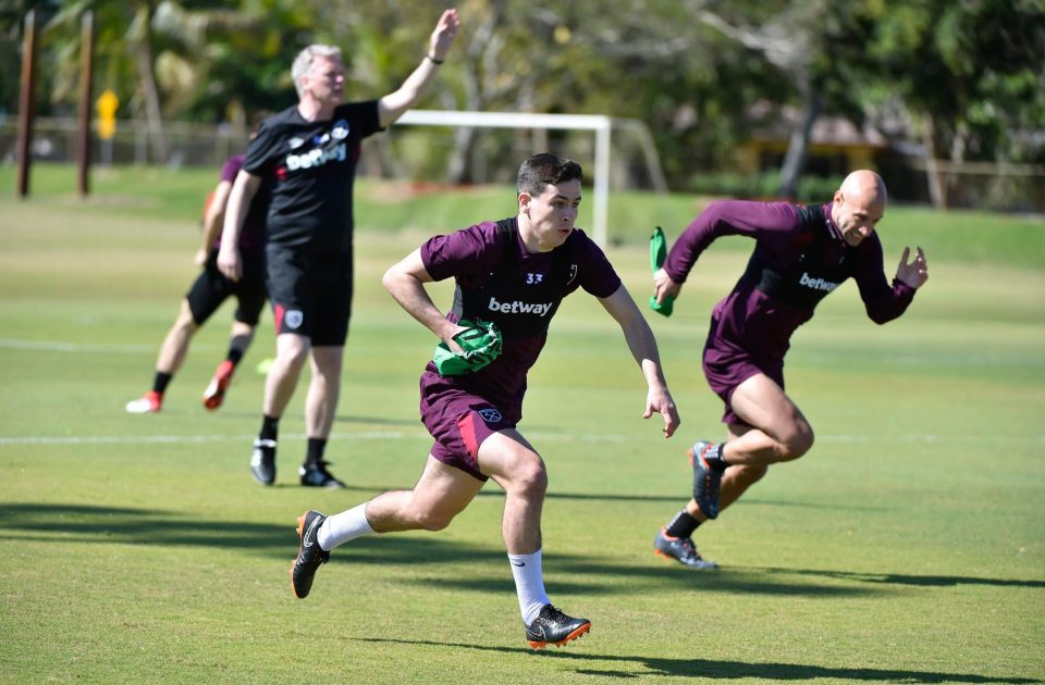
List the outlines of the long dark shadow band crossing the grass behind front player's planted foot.
<svg viewBox="0 0 1045 685">
<path fill-rule="evenodd" d="M 190 512 L 25 502 L 0 503 L 0 538 L 28 538 L 52 544 L 213 547 L 249 550 L 281 560 L 293 555 L 298 545 L 292 523 L 216 521 L 199 519 Z M 890 591 L 889 585 L 1045 587 L 1042 581 L 808 569 L 726 568 L 715 572 L 693 572 L 679 564 L 664 565 L 653 558 L 652 551 L 649 559 L 647 564 L 620 563 L 611 557 L 555 551 L 545 560 L 544 571 L 555 593 L 574 595 L 696 590 L 831 598 L 878 595 Z M 504 562 L 500 540 L 491 539 L 489 546 L 479 546 L 446 539 L 438 534 L 411 532 L 353 540 L 337 550 L 331 559 L 331 566 L 402 566 L 411 572 L 405 574 L 405 583 L 500 593 L 511 590 L 511 575 L 506 574 Z M 432 569 L 432 573 L 419 575 L 418 564 L 423 564 L 426 571 Z M 438 569 L 446 564 L 467 564 L 475 572 L 447 574 Z M 785 575 L 792 577 L 782 577 Z"/>
</svg>

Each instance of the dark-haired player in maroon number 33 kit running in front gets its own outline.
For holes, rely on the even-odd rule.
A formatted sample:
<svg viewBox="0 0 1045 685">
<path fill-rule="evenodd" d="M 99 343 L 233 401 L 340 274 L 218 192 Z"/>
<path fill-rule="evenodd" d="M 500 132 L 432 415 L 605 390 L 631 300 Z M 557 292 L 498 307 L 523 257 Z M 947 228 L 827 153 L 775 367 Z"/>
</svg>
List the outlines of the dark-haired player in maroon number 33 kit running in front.
<svg viewBox="0 0 1045 685">
<path fill-rule="evenodd" d="M 574 227 L 581 198 L 580 165 L 553 154 L 529 158 L 519 170 L 518 214 L 425 242 L 384 275 L 392 297 L 448 349 L 462 353 L 458 322 L 494 324 L 502 352 L 488 365 L 442 375 L 430 362 L 421 375 L 421 421 L 435 438 L 413 490 L 384 493 L 343 513 L 306 511 L 298 519 L 302 545 L 292 568 L 297 597 L 311 588 L 330 550 L 361 535 L 445 528 L 493 478 L 505 490 L 502 533 L 508 552 L 526 639 L 532 647 L 562 645 L 591 623 L 552 606 L 541 571 L 541 508 L 548 475 L 541 454 L 517 431 L 527 371 L 548 337 L 564 297 L 582 288 L 620 325 L 648 385 L 646 418 L 678 412 L 664 382 L 656 340 L 602 250 Z M 425 284 L 453 277 L 454 308 L 443 314 Z"/>
</svg>

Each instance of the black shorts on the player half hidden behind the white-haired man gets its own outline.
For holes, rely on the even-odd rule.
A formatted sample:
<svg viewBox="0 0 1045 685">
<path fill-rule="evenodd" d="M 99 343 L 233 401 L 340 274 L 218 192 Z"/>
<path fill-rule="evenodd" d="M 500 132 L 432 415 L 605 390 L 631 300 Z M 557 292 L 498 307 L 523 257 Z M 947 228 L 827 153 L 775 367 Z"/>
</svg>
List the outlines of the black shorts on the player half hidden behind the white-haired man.
<svg viewBox="0 0 1045 685">
<path fill-rule="evenodd" d="M 210 319 L 222 302 L 231 296 L 238 301 L 236 321 L 248 326 L 258 325 L 261 308 L 265 307 L 265 253 L 261 251 L 243 253 L 243 277 L 230 281 L 218 270 L 218 251 L 211 251 L 204 264 L 204 271 L 196 278 L 185 299 L 193 312 L 197 326 Z"/>
</svg>

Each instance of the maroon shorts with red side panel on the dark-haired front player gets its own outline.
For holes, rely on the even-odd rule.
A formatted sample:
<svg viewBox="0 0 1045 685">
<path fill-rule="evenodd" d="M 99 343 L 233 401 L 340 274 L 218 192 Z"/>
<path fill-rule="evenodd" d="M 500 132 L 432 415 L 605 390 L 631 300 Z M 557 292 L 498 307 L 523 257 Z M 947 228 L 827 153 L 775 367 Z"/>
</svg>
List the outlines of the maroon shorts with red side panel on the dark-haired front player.
<svg viewBox="0 0 1045 685">
<path fill-rule="evenodd" d="M 447 466 L 485 482 L 488 476 L 479 471 L 479 446 L 497 431 L 515 428 L 518 419 L 517 409 L 502 410 L 446 384 L 437 373 L 421 375 L 421 423 L 435 438 L 432 457 Z"/>
</svg>

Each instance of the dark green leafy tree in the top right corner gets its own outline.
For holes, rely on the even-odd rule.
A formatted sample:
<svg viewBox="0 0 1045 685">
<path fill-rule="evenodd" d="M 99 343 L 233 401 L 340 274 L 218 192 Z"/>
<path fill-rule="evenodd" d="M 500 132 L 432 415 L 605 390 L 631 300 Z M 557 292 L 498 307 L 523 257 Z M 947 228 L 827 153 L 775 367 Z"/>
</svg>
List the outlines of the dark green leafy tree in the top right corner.
<svg viewBox="0 0 1045 685">
<path fill-rule="evenodd" d="M 1036 0 L 866 3 L 869 52 L 921 133 L 930 196 L 948 204 L 937 160 L 1045 159 L 1045 7 Z M 954 176 L 950 176 L 950 184 Z"/>
</svg>

